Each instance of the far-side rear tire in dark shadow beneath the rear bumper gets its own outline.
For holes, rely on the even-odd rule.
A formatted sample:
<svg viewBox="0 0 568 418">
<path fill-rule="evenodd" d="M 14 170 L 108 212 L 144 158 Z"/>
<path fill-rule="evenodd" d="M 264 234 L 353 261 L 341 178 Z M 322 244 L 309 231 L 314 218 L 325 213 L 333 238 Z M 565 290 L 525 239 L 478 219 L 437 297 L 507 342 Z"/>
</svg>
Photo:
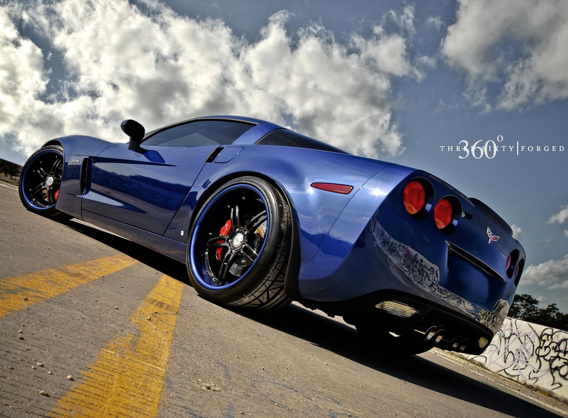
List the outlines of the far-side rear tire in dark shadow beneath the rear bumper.
<svg viewBox="0 0 568 418">
<path fill-rule="evenodd" d="M 356 328 L 370 349 L 392 354 L 412 355 L 427 352 L 434 347 L 434 341 L 438 337 L 430 335 L 429 339 L 424 341 L 425 336 L 414 330 L 395 336 L 384 328 L 378 328 L 367 322 L 357 323 Z"/>
</svg>

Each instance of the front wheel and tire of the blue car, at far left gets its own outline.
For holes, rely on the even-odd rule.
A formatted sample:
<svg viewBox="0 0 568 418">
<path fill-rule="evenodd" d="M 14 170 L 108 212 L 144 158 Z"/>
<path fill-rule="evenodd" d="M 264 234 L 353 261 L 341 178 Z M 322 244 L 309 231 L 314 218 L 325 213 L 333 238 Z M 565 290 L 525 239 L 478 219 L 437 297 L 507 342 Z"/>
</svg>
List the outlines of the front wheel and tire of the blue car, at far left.
<svg viewBox="0 0 568 418">
<path fill-rule="evenodd" d="M 20 200 L 27 210 L 58 220 L 71 218 L 55 208 L 64 164 L 63 149 L 59 145 L 44 146 L 30 155 L 22 168 L 18 187 Z"/>
</svg>

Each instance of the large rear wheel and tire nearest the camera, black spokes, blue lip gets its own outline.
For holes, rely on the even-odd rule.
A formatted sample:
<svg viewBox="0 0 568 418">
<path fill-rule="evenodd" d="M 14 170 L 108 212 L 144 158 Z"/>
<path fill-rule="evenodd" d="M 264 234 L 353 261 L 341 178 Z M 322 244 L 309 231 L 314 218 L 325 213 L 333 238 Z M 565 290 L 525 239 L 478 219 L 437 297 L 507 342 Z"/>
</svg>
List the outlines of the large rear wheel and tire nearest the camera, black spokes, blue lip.
<svg viewBox="0 0 568 418">
<path fill-rule="evenodd" d="M 227 226 L 226 235 L 220 234 Z M 191 284 L 220 305 L 249 311 L 284 307 L 292 300 L 284 292 L 291 236 L 290 208 L 277 188 L 255 177 L 231 180 L 207 199 L 191 227 L 186 252 Z"/>
</svg>

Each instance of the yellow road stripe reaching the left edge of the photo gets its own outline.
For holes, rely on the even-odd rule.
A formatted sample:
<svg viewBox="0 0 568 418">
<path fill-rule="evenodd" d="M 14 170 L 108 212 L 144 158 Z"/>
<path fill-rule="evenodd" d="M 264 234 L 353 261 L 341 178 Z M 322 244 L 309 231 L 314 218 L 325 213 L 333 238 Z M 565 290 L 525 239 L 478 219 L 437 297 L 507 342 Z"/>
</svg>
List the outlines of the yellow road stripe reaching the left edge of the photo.
<svg viewBox="0 0 568 418">
<path fill-rule="evenodd" d="M 29 275 L 0 279 L 0 318 L 7 313 L 45 301 L 103 275 L 118 272 L 136 260 L 126 255 L 67 265 Z"/>
</svg>

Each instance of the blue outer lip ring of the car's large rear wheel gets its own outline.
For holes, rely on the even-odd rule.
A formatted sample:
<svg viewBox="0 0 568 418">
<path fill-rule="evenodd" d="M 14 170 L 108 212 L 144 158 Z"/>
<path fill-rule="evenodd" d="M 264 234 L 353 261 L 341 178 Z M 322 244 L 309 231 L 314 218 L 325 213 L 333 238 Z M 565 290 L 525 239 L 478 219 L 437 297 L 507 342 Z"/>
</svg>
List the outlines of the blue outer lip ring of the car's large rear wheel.
<svg viewBox="0 0 568 418">
<path fill-rule="evenodd" d="M 243 189 L 243 188 L 250 189 L 250 190 L 256 192 L 257 195 L 260 196 L 260 198 L 262 199 L 262 203 L 264 204 L 264 208 L 266 210 L 266 235 L 268 235 L 268 229 L 270 228 L 270 214 L 269 214 L 269 211 L 268 211 L 268 205 L 266 204 L 266 199 L 262 195 L 262 192 L 260 190 L 258 190 L 256 187 L 254 187 L 253 185 L 250 185 L 250 184 L 235 184 L 235 185 L 232 185 L 230 187 L 227 187 L 226 189 L 221 191 L 217 196 L 215 196 L 214 199 L 211 200 L 207 204 L 207 206 L 205 206 L 201 216 L 199 216 L 197 221 L 195 221 L 196 222 L 195 223 L 195 229 L 194 229 L 193 234 L 190 237 L 190 242 L 189 242 L 189 245 L 190 245 L 189 263 L 190 263 L 191 272 L 193 273 L 193 276 L 195 278 L 197 278 L 197 281 L 199 282 L 199 284 L 202 285 L 204 288 L 206 288 L 208 290 L 224 290 L 224 289 L 231 288 L 232 286 L 235 286 L 238 282 L 243 280 L 243 278 L 245 278 L 249 275 L 250 271 L 253 269 L 254 265 L 256 265 L 256 262 L 258 260 L 258 257 L 256 257 L 256 259 L 254 260 L 252 265 L 250 265 L 247 273 L 245 273 L 243 276 L 239 277 L 237 280 L 233 281 L 231 284 L 224 285 L 224 286 L 214 286 L 214 285 L 209 284 L 207 281 L 205 281 L 203 279 L 203 277 L 201 276 L 201 273 L 199 273 L 199 271 L 198 271 L 197 263 L 196 263 L 196 260 L 195 260 L 195 250 L 194 250 L 195 249 L 195 239 L 198 235 L 199 227 L 201 226 L 201 223 L 203 221 L 203 217 L 215 205 L 215 203 L 219 199 L 221 199 L 224 195 L 226 195 L 227 193 L 229 193 L 233 190 Z M 262 254 L 262 250 L 264 250 L 264 244 L 265 243 L 266 243 L 266 238 L 262 242 L 262 246 L 260 247 L 260 251 L 258 251 L 258 256 L 260 256 L 260 254 Z"/>
</svg>

